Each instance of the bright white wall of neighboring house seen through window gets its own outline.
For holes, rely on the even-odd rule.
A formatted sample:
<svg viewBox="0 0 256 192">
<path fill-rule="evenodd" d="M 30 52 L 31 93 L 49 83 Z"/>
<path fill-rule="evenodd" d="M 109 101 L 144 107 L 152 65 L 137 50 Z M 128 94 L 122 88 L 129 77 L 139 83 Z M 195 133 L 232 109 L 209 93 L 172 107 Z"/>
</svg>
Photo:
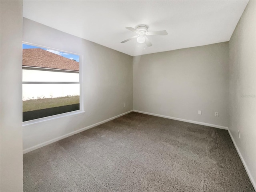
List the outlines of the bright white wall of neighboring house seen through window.
<svg viewBox="0 0 256 192">
<path fill-rule="evenodd" d="M 79 82 L 79 73 L 22 70 L 22 81 Z M 22 100 L 80 95 L 79 84 L 23 84 Z"/>
</svg>

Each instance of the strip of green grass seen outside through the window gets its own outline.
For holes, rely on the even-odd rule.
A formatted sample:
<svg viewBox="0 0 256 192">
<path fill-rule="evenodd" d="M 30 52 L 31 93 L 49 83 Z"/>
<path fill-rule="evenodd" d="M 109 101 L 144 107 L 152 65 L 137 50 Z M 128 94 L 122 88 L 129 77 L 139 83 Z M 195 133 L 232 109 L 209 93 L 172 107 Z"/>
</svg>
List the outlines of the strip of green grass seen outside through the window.
<svg viewBox="0 0 256 192">
<path fill-rule="evenodd" d="M 31 99 L 23 101 L 23 112 L 60 107 L 79 103 L 79 96 L 66 96 L 58 98 Z"/>
</svg>

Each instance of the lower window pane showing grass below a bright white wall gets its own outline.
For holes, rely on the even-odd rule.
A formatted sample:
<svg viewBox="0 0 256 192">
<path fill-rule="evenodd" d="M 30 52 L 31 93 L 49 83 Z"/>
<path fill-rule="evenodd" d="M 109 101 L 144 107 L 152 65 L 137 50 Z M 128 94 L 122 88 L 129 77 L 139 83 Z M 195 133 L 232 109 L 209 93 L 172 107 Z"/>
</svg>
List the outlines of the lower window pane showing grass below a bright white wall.
<svg viewBox="0 0 256 192">
<path fill-rule="evenodd" d="M 80 84 L 23 84 L 23 121 L 79 110 Z"/>
</svg>

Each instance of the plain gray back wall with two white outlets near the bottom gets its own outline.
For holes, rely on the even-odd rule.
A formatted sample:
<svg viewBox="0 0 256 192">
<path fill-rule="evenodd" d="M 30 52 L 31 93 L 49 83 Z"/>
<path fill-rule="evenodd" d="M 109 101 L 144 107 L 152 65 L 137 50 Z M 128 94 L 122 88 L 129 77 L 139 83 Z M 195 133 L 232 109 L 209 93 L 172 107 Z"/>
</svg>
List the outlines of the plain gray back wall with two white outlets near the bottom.
<svg viewBox="0 0 256 192">
<path fill-rule="evenodd" d="M 228 42 L 136 56 L 133 64 L 134 110 L 228 126 Z"/>
</svg>

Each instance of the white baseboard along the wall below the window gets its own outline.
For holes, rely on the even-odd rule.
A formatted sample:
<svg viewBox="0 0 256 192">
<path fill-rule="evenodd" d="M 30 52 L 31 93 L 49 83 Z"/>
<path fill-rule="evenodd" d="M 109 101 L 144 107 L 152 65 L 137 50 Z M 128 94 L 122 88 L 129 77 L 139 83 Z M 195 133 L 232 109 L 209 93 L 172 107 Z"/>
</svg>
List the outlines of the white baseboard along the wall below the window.
<svg viewBox="0 0 256 192">
<path fill-rule="evenodd" d="M 106 123 L 106 122 L 108 122 L 108 121 L 111 121 L 111 120 L 113 120 L 113 119 L 116 119 L 116 118 L 118 118 L 118 117 L 121 117 L 121 116 L 123 116 L 123 115 L 125 115 L 125 114 L 128 114 L 128 113 L 130 113 L 130 112 L 132 112 L 132 110 L 130 110 L 130 111 L 128 111 L 128 112 L 125 112 L 125 113 L 122 113 L 122 114 L 120 114 L 120 115 L 114 116 L 114 117 L 112 117 L 112 118 L 106 119 L 106 120 L 104 120 L 104 121 L 95 123 L 95 124 L 93 124 L 93 125 L 84 127 L 84 128 L 82 128 L 82 129 L 79 129 L 79 130 L 70 132 L 70 133 L 68 133 L 68 134 L 65 134 L 65 135 L 63 135 L 63 136 L 54 138 L 54 139 L 52 139 L 52 140 L 49 140 L 49 141 L 40 143 L 40 144 L 35 145 L 35 146 L 32 146 L 32 147 L 30 147 L 30 148 L 26 148 L 26 149 L 23 150 L 23 154 L 28 153 L 28 152 L 33 151 L 33 150 L 36 150 L 36 149 L 41 148 L 41 147 L 43 147 L 43 146 L 46 146 L 46 145 L 48 145 L 48 144 L 54 143 L 54 142 L 56 142 L 56 141 L 62 140 L 62 139 L 64 139 L 64 138 L 67 138 L 67 137 L 72 136 L 72 135 L 74 135 L 74 134 L 80 133 L 80 132 L 85 131 L 85 130 L 87 130 L 87 129 L 93 128 L 93 127 L 98 126 L 98 125 L 100 125 L 100 124 Z"/>
</svg>

